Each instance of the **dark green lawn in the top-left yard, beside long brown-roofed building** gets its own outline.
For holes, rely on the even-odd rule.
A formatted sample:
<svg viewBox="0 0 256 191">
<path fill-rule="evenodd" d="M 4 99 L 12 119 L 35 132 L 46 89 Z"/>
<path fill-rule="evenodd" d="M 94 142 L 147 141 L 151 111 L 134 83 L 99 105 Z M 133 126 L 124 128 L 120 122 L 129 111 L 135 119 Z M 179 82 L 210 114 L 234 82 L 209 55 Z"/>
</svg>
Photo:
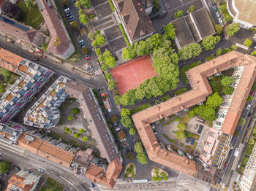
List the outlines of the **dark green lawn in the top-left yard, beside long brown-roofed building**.
<svg viewBox="0 0 256 191">
<path fill-rule="evenodd" d="M 25 13 L 25 17 L 23 18 L 22 23 L 35 29 L 39 29 L 39 25 L 42 23 L 44 18 L 42 17 L 42 14 L 38 9 L 37 4 L 35 6 L 31 5 L 30 12 L 29 7 L 26 7 L 26 4 L 24 4 L 23 2 L 17 1 L 17 5 Z"/>
</svg>

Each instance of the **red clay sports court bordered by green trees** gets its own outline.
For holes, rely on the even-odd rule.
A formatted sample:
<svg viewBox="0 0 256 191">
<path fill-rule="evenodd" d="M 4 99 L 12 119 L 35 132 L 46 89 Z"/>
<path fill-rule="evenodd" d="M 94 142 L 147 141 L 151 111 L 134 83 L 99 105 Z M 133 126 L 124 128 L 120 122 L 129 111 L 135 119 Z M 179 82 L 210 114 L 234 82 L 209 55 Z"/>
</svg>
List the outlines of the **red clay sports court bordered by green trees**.
<svg viewBox="0 0 256 191">
<path fill-rule="evenodd" d="M 150 55 L 145 55 L 135 60 L 117 66 L 111 70 L 119 93 L 123 95 L 129 90 L 138 87 L 146 79 L 157 75 L 152 66 Z"/>
</svg>

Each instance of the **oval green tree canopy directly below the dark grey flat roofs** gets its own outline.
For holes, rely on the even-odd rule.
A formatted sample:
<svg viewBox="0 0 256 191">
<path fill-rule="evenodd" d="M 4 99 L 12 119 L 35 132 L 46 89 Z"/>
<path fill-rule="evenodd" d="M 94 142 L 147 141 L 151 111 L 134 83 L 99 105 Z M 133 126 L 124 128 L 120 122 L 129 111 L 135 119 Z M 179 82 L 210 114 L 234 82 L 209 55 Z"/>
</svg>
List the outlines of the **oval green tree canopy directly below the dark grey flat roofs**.
<svg viewBox="0 0 256 191">
<path fill-rule="evenodd" d="M 189 44 L 187 47 L 183 47 L 178 51 L 178 55 L 183 61 L 187 61 L 190 58 L 194 58 L 197 55 L 200 55 L 202 52 L 202 48 L 200 47 L 200 44 L 192 43 Z"/>
</svg>

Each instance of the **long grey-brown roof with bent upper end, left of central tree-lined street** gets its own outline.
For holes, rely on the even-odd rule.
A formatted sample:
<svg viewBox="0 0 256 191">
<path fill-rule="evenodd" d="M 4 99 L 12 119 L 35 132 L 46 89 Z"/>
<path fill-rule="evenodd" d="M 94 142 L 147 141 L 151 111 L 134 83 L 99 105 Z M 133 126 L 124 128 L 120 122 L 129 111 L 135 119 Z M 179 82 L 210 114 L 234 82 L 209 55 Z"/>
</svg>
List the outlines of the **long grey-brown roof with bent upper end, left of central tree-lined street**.
<svg viewBox="0 0 256 191">
<path fill-rule="evenodd" d="M 78 98 L 83 114 L 90 121 L 91 133 L 97 141 L 99 152 L 110 163 L 118 157 L 118 148 L 94 93 L 86 85 L 74 81 L 67 82 L 65 92 L 67 95 Z"/>
</svg>

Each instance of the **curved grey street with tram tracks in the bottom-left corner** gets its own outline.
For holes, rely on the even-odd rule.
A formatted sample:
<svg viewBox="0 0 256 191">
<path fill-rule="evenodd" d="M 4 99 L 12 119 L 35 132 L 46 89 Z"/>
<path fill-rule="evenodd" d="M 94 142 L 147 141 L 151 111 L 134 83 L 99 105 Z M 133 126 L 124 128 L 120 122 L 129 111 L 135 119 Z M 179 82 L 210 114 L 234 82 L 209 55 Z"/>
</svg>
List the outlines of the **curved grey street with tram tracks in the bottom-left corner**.
<svg viewBox="0 0 256 191">
<path fill-rule="evenodd" d="M 56 179 L 69 190 L 91 190 L 86 184 L 85 179 L 81 179 L 81 176 L 72 174 L 68 168 L 58 165 L 57 163 L 53 163 L 39 155 L 34 155 L 33 153 L 27 152 L 19 147 L 10 146 L 0 142 L 0 154 L 1 159 L 8 160 L 12 164 L 18 165 L 20 168 L 31 170 L 42 168 L 44 172 L 38 172 L 37 174 L 53 177 L 53 179 Z"/>
</svg>

